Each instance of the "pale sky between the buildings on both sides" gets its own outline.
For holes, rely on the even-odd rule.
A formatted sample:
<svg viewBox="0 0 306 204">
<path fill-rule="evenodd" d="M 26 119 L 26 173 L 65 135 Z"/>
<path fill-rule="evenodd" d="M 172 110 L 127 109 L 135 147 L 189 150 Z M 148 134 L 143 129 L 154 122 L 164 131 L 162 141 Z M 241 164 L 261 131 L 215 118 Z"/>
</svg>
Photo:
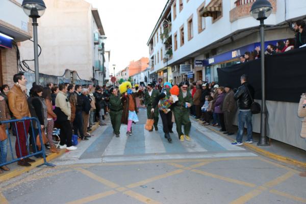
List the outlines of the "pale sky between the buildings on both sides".
<svg viewBox="0 0 306 204">
<path fill-rule="evenodd" d="M 111 50 L 110 65 L 116 72 L 130 61 L 149 57 L 147 41 L 167 0 L 86 0 L 97 8 L 107 36 L 105 49 Z M 113 67 L 109 67 L 110 74 Z"/>
</svg>

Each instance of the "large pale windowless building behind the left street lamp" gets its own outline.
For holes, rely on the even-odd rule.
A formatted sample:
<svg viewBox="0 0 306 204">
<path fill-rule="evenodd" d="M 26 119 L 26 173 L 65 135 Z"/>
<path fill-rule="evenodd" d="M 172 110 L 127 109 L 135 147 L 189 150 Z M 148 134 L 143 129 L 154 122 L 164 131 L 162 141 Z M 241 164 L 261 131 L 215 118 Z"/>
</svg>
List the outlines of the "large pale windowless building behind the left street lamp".
<svg viewBox="0 0 306 204">
<path fill-rule="evenodd" d="M 95 79 L 96 84 L 103 85 L 105 70 L 99 37 L 105 32 L 98 10 L 84 0 L 44 2 L 45 13 L 38 19 L 38 43 L 42 48 L 39 72 L 72 75 L 73 82 Z M 33 59 L 33 43 L 21 43 L 20 52 L 24 59 Z"/>
</svg>

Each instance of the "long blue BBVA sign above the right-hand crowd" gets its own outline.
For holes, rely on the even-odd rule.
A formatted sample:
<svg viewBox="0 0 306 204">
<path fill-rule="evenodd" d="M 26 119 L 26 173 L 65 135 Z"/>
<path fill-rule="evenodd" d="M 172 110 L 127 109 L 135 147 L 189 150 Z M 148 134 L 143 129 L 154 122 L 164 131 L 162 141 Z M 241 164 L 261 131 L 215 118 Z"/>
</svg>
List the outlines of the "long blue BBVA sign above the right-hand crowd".
<svg viewBox="0 0 306 204">
<path fill-rule="evenodd" d="M 273 41 L 265 42 L 264 49 L 266 49 L 266 47 L 269 44 L 275 45 L 277 41 L 279 41 L 279 40 L 273 40 Z M 203 65 L 204 66 L 209 66 L 209 65 L 213 65 L 213 64 L 219 64 L 219 63 L 224 62 L 224 61 L 236 59 L 236 58 L 244 55 L 245 52 L 252 52 L 257 46 L 260 47 L 260 42 L 249 44 L 249 45 L 246 45 L 246 46 L 243 46 L 243 47 L 239 47 L 237 49 L 233 49 L 229 52 L 226 52 L 226 53 L 223 53 L 223 54 L 220 54 L 220 55 L 216 55 L 212 58 L 209 58 L 208 60 L 203 60 Z"/>
</svg>

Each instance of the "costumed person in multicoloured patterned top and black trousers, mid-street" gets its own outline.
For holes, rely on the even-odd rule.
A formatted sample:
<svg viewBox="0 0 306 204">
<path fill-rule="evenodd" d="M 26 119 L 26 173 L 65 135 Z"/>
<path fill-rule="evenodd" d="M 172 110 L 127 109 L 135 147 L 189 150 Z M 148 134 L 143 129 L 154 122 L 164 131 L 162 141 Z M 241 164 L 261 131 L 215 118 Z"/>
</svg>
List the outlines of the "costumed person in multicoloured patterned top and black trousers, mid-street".
<svg viewBox="0 0 306 204">
<path fill-rule="evenodd" d="M 170 89 L 171 88 L 171 89 Z M 172 139 L 170 133 L 172 132 L 172 104 L 174 104 L 179 98 L 180 89 L 177 86 L 173 86 L 167 82 L 164 84 L 164 89 L 162 93 L 158 95 L 153 103 L 153 108 L 159 107 L 159 112 L 163 122 L 163 131 L 165 133 L 165 138 L 171 143 Z"/>
</svg>

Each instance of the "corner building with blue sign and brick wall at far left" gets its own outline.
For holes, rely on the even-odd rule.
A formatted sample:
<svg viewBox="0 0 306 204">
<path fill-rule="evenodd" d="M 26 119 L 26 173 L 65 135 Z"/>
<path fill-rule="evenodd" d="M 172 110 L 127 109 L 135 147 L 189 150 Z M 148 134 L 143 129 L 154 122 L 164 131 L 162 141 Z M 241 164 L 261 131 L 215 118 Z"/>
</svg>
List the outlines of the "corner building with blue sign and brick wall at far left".
<svg viewBox="0 0 306 204">
<path fill-rule="evenodd" d="M 0 85 L 13 86 L 13 75 L 19 71 L 19 43 L 32 38 L 30 18 L 21 8 L 22 0 L 3 0 L 0 3 Z M 32 43 L 33 50 L 33 43 Z"/>
</svg>

